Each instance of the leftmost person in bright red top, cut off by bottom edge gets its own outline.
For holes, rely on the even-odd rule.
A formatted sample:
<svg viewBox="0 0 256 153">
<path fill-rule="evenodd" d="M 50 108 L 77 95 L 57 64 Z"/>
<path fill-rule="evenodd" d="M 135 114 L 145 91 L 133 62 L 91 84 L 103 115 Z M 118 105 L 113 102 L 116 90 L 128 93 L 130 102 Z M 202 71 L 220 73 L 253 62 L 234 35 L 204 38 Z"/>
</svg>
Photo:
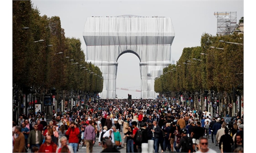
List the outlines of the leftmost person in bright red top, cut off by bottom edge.
<svg viewBox="0 0 256 153">
<path fill-rule="evenodd" d="M 51 136 L 46 136 L 46 143 L 41 144 L 38 152 L 56 152 L 57 145 L 52 141 Z"/>
</svg>

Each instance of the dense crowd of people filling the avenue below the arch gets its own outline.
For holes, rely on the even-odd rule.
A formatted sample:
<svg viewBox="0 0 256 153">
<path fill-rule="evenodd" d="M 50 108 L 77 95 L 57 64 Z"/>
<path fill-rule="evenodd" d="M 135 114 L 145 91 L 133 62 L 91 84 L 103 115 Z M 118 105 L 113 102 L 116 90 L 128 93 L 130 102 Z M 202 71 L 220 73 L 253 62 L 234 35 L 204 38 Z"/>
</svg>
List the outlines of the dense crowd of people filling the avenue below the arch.
<svg viewBox="0 0 256 153">
<path fill-rule="evenodd" d="M 53 111 L 49 123 L 44 116 L 21 114 L 13 121 L 13 152 L 77 152 L 79 144 L 93 152 L 96 141 L 102 152 L 141 152 L 148 140 L 154 141 L 155 152 L 160 147 L 161 152 L 216 152 L 208 148 L 209 140 L 222 152 L 243 152 L 240 116 L 226 123 L 159 99 L 98 99 L 83 108 Z"/>
</svg>

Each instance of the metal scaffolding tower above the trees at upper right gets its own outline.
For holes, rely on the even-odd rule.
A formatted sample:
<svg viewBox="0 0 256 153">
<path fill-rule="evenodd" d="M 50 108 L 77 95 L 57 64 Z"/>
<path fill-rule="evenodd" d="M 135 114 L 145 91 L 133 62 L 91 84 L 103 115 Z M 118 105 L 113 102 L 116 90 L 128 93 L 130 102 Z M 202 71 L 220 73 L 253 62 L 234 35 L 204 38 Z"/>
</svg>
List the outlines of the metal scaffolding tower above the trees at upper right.
<svg viewBox="0 0 256 153">
<path fill-rule="evenodd" d="M 229 35 L 238 26 L 237 12 L 214 12 L 217 17 L 217 34 Z"/>
</svg>

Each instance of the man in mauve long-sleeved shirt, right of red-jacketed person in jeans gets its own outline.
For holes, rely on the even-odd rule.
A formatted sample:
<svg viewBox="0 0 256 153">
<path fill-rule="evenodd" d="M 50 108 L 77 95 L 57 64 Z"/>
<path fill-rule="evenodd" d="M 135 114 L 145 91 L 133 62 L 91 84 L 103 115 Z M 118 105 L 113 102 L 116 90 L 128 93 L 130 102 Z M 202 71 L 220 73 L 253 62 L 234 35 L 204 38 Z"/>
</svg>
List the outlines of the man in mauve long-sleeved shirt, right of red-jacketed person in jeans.
<svg viewBox="0 0 256 153">
<path fill-rule="evenodd" d="M 92 126 L 93 121 L 89 121 L 89 125 L 84 130 L 84 142 L 86 143 L 86 152 L 93 152 L 93 144 L 95 143 L 95 128 Z"/>
</svg>

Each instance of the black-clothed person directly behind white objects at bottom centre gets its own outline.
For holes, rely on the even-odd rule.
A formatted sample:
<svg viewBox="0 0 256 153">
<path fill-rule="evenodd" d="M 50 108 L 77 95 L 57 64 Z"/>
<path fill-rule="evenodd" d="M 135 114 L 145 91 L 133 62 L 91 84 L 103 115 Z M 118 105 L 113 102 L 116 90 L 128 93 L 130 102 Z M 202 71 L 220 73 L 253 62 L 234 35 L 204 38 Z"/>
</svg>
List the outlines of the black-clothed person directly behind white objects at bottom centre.
<svg viewBox="0 0 256 153">
<path fill-rule="evenodd" d="M 138 152 L 142 152 L 141 144 L 147 143 L 147 130 L 146 123 L 140 123 L 140 130 L 137 131 L 136 143 L 138 146 Z"/>
</svg>

